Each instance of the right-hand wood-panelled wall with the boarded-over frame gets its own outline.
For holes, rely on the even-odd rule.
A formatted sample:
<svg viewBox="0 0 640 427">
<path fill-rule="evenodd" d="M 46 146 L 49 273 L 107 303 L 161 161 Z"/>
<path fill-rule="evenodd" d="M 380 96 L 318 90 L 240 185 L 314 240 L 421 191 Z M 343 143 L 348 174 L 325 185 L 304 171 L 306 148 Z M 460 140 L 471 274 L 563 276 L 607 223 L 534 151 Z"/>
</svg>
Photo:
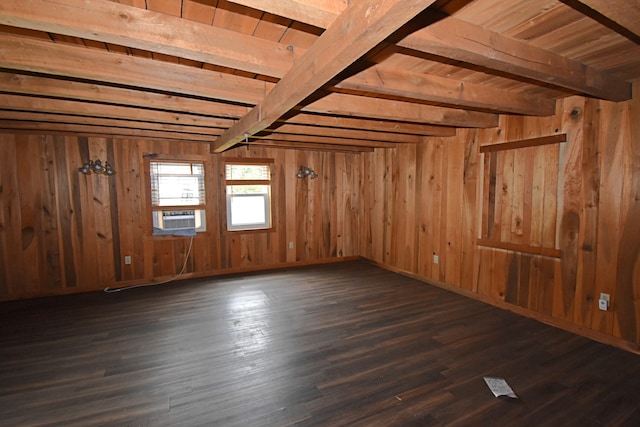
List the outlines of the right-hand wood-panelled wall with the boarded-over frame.
<svg viewBox="0 0 640 427">
<path fill-rule="evenodd" d="M 567 142 L 480 153 L 561 134 Z M 377 150 L 362 170 L 362 256 L 587 336 L 640 344 L 638 95 L 567 98 L 553 117 L 502 117 L 497 129 Z M 598 309 L 601 292 L 609 311 Z"/>
</svg>

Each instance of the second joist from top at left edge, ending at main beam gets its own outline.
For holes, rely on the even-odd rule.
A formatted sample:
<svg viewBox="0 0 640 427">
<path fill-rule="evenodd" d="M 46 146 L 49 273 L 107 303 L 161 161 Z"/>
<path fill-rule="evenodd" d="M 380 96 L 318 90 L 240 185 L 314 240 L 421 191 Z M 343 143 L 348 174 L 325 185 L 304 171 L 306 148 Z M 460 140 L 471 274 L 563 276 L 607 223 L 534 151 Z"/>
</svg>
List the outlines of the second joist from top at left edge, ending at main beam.
<svg viewBox="0 0 640 427">
<path fill-rule="evenodd" d="M 252 105 L 273 86 L 230 74 L 16 36 L 0 38 L 0 68 Z"/>
</svg>

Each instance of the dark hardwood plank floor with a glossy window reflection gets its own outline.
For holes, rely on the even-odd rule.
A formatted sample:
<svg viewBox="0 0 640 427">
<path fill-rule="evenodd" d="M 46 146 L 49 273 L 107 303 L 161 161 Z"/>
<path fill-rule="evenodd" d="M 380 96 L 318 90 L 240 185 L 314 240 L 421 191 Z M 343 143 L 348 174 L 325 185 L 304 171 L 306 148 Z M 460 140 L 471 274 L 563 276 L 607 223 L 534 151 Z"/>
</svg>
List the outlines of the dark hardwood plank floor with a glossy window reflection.
<svg viewBox="0 0 640 427">
<path fill-rule="evenodd" d="M 640 425 L 640 356 L 359 262 L 1 303 L 0 322 L 3 426 Z"/>
</svg>

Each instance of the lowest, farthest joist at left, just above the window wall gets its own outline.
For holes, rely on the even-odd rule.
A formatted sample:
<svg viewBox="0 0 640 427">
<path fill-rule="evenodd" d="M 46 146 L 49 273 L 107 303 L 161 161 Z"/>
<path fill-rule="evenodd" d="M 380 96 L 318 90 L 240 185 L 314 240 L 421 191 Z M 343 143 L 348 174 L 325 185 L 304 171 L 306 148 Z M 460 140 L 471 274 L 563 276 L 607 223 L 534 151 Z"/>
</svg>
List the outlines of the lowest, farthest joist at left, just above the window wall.
<svg viewBox="0 0 640 427">
<path fill-rule="evenodd" d="M 211 137 L 204 135 L 194 134 L 182 134 L 178 132 L 165 132 L 165 131 L 153 131 L 153 130 L 141 130 L 141 129 L 127 129 L 119 127 L 103 127 L 92 125 L 79 125 L 76 123 L 48 123 L 48 122 L 27 122 L 17 120 L 0 120 L 0 130 L 7 130 L 11 132 L 25 131 L 29 133 L 59 133 L 63 135 L 95 135 L 102 137 L 112 138 L 114 136 L 121 138 L 148 138 L 148 139 L 162 139 L 162 140 L 177 140 L 187 142 L 202 142 L 210 143 Z"/>
</svg>

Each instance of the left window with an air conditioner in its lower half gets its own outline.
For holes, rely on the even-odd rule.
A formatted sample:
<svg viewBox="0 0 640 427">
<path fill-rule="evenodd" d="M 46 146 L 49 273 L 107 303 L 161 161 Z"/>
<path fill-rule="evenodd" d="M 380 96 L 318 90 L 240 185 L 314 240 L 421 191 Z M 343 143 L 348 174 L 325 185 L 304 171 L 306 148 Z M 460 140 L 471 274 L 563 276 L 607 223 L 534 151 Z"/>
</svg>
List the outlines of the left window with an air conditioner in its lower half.
<svg viewBox="0 0 640 427">
<path fill-rule="evenodd" d="M 206 230 L 204 163 L 149 162 L 153 234 Z"/>
</svg>

